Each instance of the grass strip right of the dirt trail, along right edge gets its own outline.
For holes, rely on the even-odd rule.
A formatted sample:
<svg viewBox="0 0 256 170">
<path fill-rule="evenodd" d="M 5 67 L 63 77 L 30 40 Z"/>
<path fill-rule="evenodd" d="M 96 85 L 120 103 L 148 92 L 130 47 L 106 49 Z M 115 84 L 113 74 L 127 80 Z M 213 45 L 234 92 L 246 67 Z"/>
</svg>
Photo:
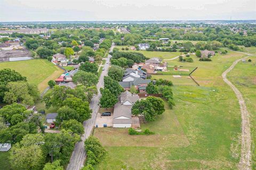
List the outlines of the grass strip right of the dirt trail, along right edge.
<svg viewBox="0 0 256 170">
<path fill-rule="evenodd" d="M 251 49 L 256 52 L 256 48 L 251 47 L 249 48 L 250 53 L 252 53 Z M 251 114 L 252 169 L 256 169 L 256 55 L 249 58 L 252 62 L 239 62 L 229 72 L 228 79 L 242 92 L 247 109 Z"/>
</svg>

